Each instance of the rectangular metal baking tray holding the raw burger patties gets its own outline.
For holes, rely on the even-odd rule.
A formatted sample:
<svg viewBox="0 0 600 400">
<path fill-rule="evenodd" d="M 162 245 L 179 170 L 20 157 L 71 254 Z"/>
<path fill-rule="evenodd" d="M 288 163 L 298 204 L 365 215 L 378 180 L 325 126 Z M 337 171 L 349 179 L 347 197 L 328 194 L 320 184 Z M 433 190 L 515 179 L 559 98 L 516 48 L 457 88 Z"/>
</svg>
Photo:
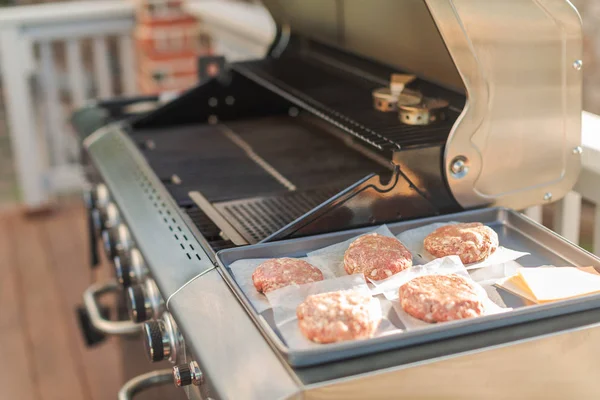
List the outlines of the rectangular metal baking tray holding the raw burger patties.
<svg viewBox="0 0 600 400">
<path fill-rule="evenodd" d="M 490 226 L 498 233 L 502 246 L 530 253 L 530 255 L 518 259 L 518 263 L 524 267 L 537 267 L 540 265 L 555 265 L 557 267 L 567 265 L 578 267 L 593 266 L 600 271 L 600 259 L 598 257 L 521 213 L 510 209 L 486 208 L 414 221 L 391 223 L 388 224 L 388 227 L 392 233 L 397 235 L 407 229 L 444 221 L 482 222 Z M 600 308 L 600 294 L 545 305 L 530 305 L 528 301 L 503 289 L 498 289 L 506 305 L 513 308 L 512 311 L 474 319 L 446 322 L 432 325 L 430 328 L 422 330 L 403 331 L 372 339 L 328 344 L 318 349 L 293 350 L 288 348 L 283 342 L 276 329 L 274 329 L 274 324 L 270 324 L 268 311 L 258 314 L 252 307 L 249 300 L 237 286 L 229 269 L 229 266 L 237 260 L 305 256 L 307 252 L 312 250 L 345 241 L 371 230 L 373 230 L 373 227 L 366 227 L 281 242 L 227 249 L 217 253 L 219 269 L 226 281 L 267 340 L 281 353 L 291 366 L 304 367 L 322 364 L 364 354 L 408 347 L 459 335 Z"/>
</svg>

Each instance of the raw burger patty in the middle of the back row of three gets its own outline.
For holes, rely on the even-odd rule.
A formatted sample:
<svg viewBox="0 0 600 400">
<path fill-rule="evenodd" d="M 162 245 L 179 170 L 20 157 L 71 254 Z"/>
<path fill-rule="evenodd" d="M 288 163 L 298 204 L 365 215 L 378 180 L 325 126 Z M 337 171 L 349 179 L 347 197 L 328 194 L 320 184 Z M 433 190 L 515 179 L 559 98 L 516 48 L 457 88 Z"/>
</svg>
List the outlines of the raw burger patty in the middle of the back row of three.
<svg viewBox="0 0 600 400">
<path fill-rule="evenodd" d="M 412 266 L 410 251 L 396 238 L 377 233 L 363 235 L 344 254 L 344 269 L 379 281 Z"/>
</svg>

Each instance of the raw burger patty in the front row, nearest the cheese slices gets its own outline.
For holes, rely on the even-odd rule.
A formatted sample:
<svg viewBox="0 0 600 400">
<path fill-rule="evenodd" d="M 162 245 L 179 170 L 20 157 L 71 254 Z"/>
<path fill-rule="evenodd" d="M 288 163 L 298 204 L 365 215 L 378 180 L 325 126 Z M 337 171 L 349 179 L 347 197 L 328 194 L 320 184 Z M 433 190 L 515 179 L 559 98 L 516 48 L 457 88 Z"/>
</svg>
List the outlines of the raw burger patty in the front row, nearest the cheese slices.
<svg viewBox="0 0 600 400">
<path fill-rule="evenodd" d="M 426 322 L 445 322 L 483 314 L 471 282 L 459 275 L 427 275 L 400 287 L 402 309 Z"/>
</svg>

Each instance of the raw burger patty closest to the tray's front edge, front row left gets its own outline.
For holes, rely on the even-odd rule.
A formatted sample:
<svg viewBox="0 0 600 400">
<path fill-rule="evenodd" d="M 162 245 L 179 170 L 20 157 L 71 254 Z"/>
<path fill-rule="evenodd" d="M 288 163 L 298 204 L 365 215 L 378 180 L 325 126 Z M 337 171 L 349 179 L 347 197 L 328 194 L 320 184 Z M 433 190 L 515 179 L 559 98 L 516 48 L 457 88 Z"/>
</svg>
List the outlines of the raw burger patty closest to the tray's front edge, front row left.
<svg viewBox="0 0 600 400">
<path fill-rule="evenodd" d="M 381 322 L 379 300 L 355 290 L 308 296 L 296 315 L 302 334 L 316 343 L 366 339 Z"/>
</svg>

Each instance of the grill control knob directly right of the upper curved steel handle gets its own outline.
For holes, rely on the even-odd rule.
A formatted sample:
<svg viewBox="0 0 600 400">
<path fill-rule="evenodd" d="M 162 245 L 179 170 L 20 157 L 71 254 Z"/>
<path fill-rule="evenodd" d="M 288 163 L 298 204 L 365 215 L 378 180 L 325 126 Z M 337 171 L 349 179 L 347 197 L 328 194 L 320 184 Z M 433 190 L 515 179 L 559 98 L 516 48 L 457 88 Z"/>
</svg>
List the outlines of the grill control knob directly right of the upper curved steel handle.
<svg viewBox="0 0 600 400">
<path fill-rule="evenodd" d="M 165 304 L 154 280 L 127 288 L 127 308 L 133 322 L 148 321 L 163 313 Z"/>
</svg>

